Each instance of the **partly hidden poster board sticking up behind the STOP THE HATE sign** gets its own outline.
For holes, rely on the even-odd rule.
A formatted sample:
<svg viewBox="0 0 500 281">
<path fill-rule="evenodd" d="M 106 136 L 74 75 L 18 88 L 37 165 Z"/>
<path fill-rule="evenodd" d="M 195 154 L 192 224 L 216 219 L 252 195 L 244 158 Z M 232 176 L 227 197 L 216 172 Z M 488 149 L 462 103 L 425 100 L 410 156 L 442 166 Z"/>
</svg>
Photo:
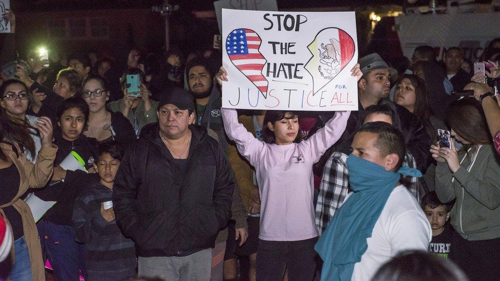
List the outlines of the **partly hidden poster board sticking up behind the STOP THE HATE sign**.
<svg viewBox="0 0 500 281">
<path fill-rule="evenodd" d="M 222 9 L 278 11 L 276 0 L 219 0 L 214 2 L 219 32 L 222 34 Z"/>
</svg>

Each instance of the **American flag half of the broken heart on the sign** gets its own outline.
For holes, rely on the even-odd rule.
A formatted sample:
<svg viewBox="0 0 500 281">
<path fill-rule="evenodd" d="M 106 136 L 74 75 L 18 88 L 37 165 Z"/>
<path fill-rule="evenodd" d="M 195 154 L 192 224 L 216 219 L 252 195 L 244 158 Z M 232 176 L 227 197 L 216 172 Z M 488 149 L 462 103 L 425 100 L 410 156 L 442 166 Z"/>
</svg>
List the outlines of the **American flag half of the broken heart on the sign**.
<svg viewBox="0 0 500 281">
<path fill-rule="evenodd" d="M 226 52 L 234 66 L 248 78 L 264 98 L 267 98 L 268 81 L 262 75 L 262 69 L 267 60 L 259 52 L 262 40 L 251 29 L 235 29 L 226 40 Z"/>
</svg>

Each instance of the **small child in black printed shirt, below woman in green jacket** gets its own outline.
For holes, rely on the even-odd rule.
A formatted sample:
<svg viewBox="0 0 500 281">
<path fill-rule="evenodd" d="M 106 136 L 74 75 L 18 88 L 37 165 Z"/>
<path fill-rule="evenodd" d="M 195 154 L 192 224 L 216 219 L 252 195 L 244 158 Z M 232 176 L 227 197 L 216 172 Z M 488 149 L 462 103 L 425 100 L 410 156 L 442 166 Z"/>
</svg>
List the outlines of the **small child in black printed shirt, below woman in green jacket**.
<svg viewBox="0 0 500 281">
<path fill-rule="evenodd" d="M 435 191 L 427 193 L 421 203 L 432 228 L 429 252 L 445 258 L 448 258 L 450 253 L 454 232 L 453 227 L 446 223 L 450 219 L 451 205 L 441 203 Z"/>
</svg>

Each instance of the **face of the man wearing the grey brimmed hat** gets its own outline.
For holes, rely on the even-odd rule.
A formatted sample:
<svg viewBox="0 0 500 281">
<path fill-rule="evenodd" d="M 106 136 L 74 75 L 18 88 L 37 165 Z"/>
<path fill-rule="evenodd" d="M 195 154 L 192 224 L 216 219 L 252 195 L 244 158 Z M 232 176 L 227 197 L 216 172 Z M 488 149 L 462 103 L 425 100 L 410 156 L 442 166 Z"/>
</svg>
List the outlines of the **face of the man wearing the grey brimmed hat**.
<svg viewBox="0 0 500 281">
<path fill-rule="evenodd" d="M 390 91 L 390 75 L 387 69 L 376 69 L 368 72 L 365 78 L 361 78 L 358 82 L 358 87 L 361 88 L 365 95 L 377 97 L 377 99 L 385 98 Z"/>
</svg>

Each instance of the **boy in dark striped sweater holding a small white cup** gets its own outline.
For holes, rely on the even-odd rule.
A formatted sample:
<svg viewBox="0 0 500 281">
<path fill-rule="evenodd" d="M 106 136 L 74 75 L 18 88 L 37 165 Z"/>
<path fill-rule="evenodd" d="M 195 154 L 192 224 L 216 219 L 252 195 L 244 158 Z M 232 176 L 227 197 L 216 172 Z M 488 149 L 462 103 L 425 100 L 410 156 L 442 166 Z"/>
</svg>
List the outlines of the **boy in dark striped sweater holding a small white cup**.
<svg viewBox="0 0 500 281">
<path fill-rule="evenodd" d="M 124 237 L 116 225 L 111 203 L 123 148 L 115 141 L 101 143 L 94 158 L 100 181 L 76 199 L 75 237 L 87 248 L 88 280 L 122 280 L 134 276 L 137 267 L 134 242 Z"/>
</svg>

